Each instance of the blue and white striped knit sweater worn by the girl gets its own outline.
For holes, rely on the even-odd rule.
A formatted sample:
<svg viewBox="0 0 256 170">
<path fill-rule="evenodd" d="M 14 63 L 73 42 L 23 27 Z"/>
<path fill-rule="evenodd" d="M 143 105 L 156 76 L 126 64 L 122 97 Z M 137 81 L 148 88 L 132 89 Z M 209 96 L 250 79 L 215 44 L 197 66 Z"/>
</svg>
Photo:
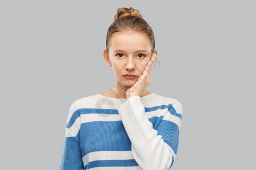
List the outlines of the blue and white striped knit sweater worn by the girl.
<svg viewBox="0 0 256 170">
<path fill-rule="evenodd" d="M 78 99 L 69 109 L 60 169 L 170 169 L 182 116 L 179 101 L 154 93 Z"/>
</svg>

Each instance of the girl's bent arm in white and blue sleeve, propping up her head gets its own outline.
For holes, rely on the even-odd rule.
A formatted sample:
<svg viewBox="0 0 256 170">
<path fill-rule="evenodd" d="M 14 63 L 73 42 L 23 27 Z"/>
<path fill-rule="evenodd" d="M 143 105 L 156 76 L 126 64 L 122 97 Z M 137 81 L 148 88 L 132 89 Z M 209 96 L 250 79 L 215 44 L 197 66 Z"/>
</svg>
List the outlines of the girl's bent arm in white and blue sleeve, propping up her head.
<svg viewBox="0 0 256 170">
<path fill-rule="evenodd" d="M 167 108 L 156 130 L 148 120 L 139 96 L 129 97 L 118 108 L 132 143 L 131 151 L 140 169 L 170 169 L 174 163 L 179 143 L 182 107 L 179 101 L 173 100 L 173 104 L 150 108 L 150 111 Z"/>
</svg>

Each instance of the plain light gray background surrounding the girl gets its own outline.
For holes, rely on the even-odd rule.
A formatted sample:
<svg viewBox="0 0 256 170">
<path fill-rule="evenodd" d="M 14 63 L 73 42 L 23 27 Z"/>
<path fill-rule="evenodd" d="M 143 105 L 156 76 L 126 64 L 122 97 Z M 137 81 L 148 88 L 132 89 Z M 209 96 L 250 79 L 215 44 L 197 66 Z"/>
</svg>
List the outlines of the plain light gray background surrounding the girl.
<svg viewBox="0 0 256 170">
<path fill-rule="evenodd" d="M 256 169 L 255 1 L 1 1 L 1 167 L 59 169 L 73 101 L 114 87 L 120 7 L 151 25 L 148 91 L 183 105 L 172 169 Z"/>
</svg>

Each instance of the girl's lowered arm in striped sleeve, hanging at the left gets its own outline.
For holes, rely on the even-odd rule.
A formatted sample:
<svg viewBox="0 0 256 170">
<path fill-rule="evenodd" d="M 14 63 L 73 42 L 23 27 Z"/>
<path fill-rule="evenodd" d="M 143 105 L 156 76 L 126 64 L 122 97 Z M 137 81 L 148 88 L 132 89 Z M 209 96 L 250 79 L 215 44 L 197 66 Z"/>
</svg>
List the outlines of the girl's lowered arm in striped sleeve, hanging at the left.
<svg viewBox="0 0 256 170">
<path fill-rule="evenodd" d="M 80 151 L 80 113 L 73 103 L 69 109 L 60 170 L 84 169 Z"/>
</svg>

